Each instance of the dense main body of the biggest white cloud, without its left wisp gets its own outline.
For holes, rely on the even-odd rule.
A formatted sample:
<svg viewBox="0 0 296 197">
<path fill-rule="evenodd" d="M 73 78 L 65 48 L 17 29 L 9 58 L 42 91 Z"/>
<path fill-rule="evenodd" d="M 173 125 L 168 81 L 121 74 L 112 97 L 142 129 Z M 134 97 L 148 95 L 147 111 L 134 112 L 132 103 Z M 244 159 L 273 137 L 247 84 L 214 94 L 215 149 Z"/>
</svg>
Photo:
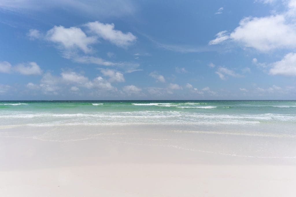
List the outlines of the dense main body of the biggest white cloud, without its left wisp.
<svg viewBox="0 0 296 197">
<path fill-rule="evenodd" d="M 286 21 L 284 15 L 247 17 L 239 22 L 231 34 L 232 40 L 262 52 L 273 49 L 296 47 L 295 25 Z"/>
</svg>

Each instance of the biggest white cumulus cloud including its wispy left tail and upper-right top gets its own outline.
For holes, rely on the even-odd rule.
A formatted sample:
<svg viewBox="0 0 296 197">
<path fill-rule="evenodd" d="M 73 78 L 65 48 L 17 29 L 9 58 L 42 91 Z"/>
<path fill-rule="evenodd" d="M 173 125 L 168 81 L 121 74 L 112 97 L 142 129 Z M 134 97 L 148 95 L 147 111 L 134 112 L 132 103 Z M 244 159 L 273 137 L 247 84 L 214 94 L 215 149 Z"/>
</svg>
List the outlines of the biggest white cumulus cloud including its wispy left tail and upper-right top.
<svg viewBox="0 0 296 197">
<path fill-rule="evenodd" d="M 269 3 L 272 0 L 265 0 Z M 260 52 L 269 52 L 275 49 L 296 48 L 296 1 L 283 1 L 286 11 L 281 14 L 266 17 L 245 17 L 239 26 L 228 35 L 226 31 L 219 32 L 217 38 L 209 44 L 219 44 L 230 39 L 242 47 L 254 48 Z"/>
</svg>

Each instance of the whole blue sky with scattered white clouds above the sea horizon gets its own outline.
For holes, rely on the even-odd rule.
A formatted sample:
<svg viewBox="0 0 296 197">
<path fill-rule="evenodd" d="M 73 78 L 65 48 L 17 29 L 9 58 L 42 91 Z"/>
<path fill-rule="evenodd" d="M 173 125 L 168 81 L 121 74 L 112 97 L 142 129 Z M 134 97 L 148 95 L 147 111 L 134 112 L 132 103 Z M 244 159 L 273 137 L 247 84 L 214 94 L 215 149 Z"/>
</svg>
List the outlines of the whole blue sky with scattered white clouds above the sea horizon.
<svg viewBox="0 0 296 197">
<path fill-rule="evenodd" d="M 0 100 L 295 100 L 296 0 L 0 0 Z"/>
</svg>

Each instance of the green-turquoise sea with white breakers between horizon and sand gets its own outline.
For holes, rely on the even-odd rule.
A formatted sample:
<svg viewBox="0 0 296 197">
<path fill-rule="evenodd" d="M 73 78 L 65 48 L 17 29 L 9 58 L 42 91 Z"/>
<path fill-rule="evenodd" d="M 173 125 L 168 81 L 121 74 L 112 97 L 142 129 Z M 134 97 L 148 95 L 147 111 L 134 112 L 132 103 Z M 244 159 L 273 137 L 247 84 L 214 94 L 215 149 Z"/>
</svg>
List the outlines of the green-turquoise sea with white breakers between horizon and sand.
<svg viewBox="0 0 296 197">
<path fill-rule="evenodd" d="M 253 125 L 296 127 L 296 101 L 0 101 L 0 125 Z"/>
</svg>

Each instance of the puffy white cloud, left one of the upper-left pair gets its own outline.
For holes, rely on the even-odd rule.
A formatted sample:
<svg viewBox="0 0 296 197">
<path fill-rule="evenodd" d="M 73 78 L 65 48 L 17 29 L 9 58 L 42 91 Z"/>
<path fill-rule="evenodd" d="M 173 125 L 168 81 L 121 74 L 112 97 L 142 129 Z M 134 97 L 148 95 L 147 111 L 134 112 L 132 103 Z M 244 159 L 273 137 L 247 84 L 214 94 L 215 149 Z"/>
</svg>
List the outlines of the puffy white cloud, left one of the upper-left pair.
<svg viewBox="0 0 296 197">
<path fill-rule="evenodd" d="M 91 52 L 90 44 L 96 42 L 95 37 L 88 37 L 80 28 L 63 26 L 54 26 L 47 31 L 46 39 L 59 44 L 66 50 L 81 49 L 84 53 Z"/>
</svg>

